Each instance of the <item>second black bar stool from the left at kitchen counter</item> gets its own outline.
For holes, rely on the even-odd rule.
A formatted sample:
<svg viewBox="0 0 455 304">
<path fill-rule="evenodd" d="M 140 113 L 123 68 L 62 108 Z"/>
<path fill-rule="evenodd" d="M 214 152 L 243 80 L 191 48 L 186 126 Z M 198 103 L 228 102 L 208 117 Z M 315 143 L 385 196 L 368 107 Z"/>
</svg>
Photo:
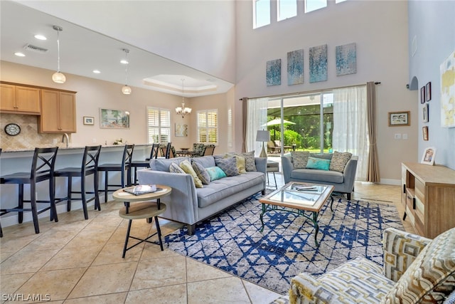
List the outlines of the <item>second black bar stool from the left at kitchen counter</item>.
<svg viewBox="0 0 455 304">
<path fill-rule="evenodd" d="M 68 179 L 67 196 L 56 198 L 56 202 L 67 201 L 67 211 L 71 211 L 71 200 L 82 200 L 82 209 L 85 219 L 88 219 L 87 203 L 95 200 L 95 210 L 100 211 L 100 196 L 98 193 L 98 159 L 100 159 L 101 145 L 86 146 L 82 154 L 82 164 L 80 167 L 66 167 L 55 170 L 55 177 L 66 177 Z M 86 177 L 93 175 L 93 191 L 86 189 Z M 73 177 L 80 177 L 80 191 L 73 191 Z M 74 197 L 73 194 L 80 194 Z M 93 194 L 87 199 L 86 194 Z"/>
</svg>

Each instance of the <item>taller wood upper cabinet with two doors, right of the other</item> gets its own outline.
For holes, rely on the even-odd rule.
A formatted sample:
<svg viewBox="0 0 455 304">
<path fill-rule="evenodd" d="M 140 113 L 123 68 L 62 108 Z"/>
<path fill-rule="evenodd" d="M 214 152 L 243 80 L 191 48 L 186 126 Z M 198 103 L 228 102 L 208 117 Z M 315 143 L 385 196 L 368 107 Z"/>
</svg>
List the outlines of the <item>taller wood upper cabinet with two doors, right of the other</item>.
<svg viewBox="0 0 455 304">
<path fill-rule="evenodd" d="M 41 133 L 76 132 L 76 93 L 41 89 Z"/>
</svg>

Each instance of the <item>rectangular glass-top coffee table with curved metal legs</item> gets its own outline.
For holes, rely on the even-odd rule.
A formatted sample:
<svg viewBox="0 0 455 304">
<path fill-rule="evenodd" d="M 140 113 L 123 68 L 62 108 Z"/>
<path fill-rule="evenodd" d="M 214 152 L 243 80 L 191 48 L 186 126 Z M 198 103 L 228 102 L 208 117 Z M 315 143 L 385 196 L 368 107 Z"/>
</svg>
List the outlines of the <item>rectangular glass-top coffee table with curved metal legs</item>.
<svg viewBox="0 0 455 304">
<path fill-rule="evenodd" d="M 332 209 L 333 197 L 331 196 L 334 187 L 325 184 L 310 184 L 301 182 L 289 182 L 280 189 L 259 199 L 262 203 L 261 223 L 264 231 L 264 214 L 268 211 L 287 211 L 304 216 L 313 222 L 316 232 L 314 242 L 318 246 L 318 216 L 327 199 L 331 199 L 330 208 Z M 280 208 L 282 207 L 282 208 Z M 287 208 L 287 209 L 284 209 Z M 309 212 L 311 216 L 305 214 Z M 332 210 L 333 211 L 333 210 Z"/>
</svg>

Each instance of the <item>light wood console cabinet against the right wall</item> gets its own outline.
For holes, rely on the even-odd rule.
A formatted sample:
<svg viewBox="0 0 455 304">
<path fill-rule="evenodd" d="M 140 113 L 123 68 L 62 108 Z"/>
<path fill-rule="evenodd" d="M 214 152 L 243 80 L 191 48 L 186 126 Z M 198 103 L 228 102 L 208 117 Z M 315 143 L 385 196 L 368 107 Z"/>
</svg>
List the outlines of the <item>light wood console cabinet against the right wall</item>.
<svg viewBox="0 0 455 304">
<path fill-rule="evenodd" d="M 402 204 L 417 234 L 434 239 L 455 227 L 455 171 L 444 166 L 402 164 Z"/>
</svg>

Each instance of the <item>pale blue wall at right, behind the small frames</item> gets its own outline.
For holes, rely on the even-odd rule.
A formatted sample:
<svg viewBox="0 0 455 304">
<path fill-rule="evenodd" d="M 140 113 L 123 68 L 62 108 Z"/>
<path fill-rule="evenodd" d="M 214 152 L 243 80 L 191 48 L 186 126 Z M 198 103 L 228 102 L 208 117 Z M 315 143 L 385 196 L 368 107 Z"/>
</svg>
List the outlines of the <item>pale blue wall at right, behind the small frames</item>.
<svg viewBox="0 0 455 304">
<path fill-rule="evenodd" d="M 410 83 L 417 80 L 415 90 L 432 83 L 432 100 L 429 101 L 429 122 L 422 122 L 419 115 L 419 149 L 417 157 L 422 157 L 426 147 L 436 147 L 435 162 L 455 169 L 455 127 L 441 127 L 441 74 L 439 67 L 455 51 L 455 1 L 410 1 L 411 45 L 414 37 L 417 51 L 410 52 Z M 423 22 L 422 22 L 423 21 Z M 410 50 L 412 51 L 412 50 Z M 419 112 L 422 105 L 418 95 L 414 99 Z M 429 140 L 422 139 L 422 127 L 428 126 Z"/>
</svg>

